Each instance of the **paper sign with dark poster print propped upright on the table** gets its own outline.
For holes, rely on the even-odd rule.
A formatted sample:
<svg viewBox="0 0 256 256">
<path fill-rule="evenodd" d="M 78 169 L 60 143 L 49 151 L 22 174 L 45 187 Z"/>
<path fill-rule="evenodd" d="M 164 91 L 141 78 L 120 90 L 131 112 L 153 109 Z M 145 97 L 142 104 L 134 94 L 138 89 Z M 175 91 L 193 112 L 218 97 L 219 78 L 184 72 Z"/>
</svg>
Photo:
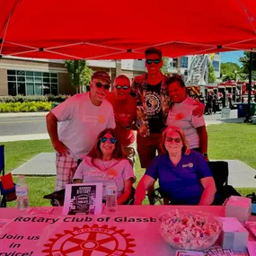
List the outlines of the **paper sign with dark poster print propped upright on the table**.
<svg viewBox="0 0 256 256">
<path fill-rule="evenodd" d="M 63 215 L 102 213 L 102 183 L 67 184 Z"/>
</svg>

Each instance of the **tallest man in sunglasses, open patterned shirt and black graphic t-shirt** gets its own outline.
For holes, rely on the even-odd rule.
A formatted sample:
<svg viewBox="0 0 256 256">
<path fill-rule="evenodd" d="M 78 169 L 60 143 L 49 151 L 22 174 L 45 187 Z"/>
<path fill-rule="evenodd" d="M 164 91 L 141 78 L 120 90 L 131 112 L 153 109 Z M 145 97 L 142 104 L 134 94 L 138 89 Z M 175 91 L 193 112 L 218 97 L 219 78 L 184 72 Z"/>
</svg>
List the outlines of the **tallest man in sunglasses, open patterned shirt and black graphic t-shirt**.
<svg viewBox="0 0 256 256">
<path fill-rule="evenodd" d="M 147 168 L 161 149 L 161 131 L 169 107 L 169 95 L 160 68 L 163 66 L 159 49 L 146 49 L 146 75 L 134 78 L 133 93 L 137 99 L 137 153 L 142 168 Z"/>
</svg>

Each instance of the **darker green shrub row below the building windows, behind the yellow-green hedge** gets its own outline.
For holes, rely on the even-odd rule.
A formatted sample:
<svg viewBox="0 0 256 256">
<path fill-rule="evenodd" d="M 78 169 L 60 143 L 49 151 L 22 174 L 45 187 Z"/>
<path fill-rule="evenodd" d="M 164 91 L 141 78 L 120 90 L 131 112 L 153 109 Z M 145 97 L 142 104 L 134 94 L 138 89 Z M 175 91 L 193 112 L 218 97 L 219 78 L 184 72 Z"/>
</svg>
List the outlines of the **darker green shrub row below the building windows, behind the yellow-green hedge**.
<svg viewBox="0 0 256 256">
<path fill-rule="evenodd" d="M 67 95 L 28 95 L 21 94 L 17 96 L 4 96 L 0 97 L 0 103 L 8 102 L 65 102 Z"/>
</svg>

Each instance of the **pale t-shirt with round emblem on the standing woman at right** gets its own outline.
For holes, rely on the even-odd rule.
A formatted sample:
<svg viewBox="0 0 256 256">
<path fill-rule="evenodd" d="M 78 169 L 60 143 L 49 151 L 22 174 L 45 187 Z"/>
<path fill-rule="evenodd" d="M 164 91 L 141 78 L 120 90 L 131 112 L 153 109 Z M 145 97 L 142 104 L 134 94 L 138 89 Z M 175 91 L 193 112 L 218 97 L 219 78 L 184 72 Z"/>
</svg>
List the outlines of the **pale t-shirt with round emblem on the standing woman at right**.
<svg viewBox="0 0 256 256">
<path fill-rule="evenodd" d="M 174 103 L 166 120 L 167 126 L 176 126 L 185 132 L 190 148 L 199 147 L 199 134 L 197 128 L 206 125 L 203 115 L 201 117 L 192 115 L 192 110 L 197 108 L 194 103 L 195 101 L 189 96 L 184 102 Z"/>
</svg>

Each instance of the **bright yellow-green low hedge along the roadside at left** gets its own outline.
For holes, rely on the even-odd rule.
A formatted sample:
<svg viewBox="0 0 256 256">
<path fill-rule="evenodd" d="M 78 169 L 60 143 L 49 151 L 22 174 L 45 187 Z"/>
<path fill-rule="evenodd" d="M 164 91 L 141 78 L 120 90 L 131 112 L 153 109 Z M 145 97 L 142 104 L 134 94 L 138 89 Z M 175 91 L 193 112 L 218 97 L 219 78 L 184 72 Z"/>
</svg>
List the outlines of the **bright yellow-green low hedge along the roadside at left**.
<svg viewBox="0 0 256 256">
<path fill-rule="evenodd" d="M 0 103 L 0 112 L 38 112 L 51 110 L 51 102 Z"/>
</svg>

